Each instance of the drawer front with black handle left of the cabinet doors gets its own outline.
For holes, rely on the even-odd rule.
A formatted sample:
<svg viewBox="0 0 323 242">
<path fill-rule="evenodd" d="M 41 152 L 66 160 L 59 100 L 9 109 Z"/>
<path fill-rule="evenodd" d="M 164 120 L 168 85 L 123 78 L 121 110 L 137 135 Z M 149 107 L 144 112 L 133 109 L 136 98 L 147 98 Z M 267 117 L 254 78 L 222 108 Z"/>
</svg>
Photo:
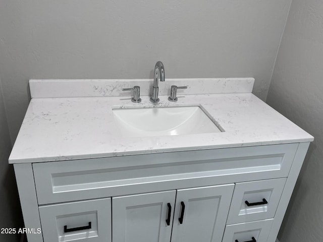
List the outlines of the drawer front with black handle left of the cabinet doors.
<svg viewBox="0 0 323 242">
<path fill-rule="evenodd" d="M 111 198 L 39 207 L 44 242 L 111 242 Z"/>
</svg>

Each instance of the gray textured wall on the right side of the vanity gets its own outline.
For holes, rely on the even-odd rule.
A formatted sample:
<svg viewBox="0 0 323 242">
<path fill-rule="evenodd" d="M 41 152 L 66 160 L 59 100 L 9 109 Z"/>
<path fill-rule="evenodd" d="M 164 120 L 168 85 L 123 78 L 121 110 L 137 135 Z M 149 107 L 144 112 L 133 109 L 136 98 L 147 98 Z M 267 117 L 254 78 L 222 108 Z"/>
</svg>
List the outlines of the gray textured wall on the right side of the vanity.
<svg viewBox="0 0 323 242">
<path fill-rule="evenodd" d="M 267 102 L 315 137 L 279 233 L 281 242 L 323 238 L 323 2 L 293 0 Z"/>
</svg>

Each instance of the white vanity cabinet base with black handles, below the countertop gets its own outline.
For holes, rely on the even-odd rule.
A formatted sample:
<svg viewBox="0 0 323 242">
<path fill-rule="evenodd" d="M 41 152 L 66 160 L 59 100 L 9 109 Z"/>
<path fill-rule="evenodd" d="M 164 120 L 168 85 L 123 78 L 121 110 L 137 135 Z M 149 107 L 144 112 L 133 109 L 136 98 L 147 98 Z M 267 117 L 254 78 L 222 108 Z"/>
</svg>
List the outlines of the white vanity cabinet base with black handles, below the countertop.
<svg viewBox="0 0 323 242">
<path fill-rule="evenodd" d="M 274 242 L 308 145 L 15 164 L 28 238 Z"/>
</svg>

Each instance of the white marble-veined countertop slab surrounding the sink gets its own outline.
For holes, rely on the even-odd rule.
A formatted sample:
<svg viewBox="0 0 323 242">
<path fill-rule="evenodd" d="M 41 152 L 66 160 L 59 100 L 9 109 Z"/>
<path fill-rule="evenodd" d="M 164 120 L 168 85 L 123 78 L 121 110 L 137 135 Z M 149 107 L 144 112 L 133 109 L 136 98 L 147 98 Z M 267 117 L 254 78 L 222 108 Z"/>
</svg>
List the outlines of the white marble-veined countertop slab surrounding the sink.
<svg viewBox="0 0 323 242">
<path fill-rule="evenodd" d="M 44 162 L 313 141 L 313 137 L 251 93 L 179 95 L 178 102 L 149 96 L 33 98 L 9 158 Z M 113 108 L 201 105 L 222 133 L 122 138 Z"/>
</svg>

